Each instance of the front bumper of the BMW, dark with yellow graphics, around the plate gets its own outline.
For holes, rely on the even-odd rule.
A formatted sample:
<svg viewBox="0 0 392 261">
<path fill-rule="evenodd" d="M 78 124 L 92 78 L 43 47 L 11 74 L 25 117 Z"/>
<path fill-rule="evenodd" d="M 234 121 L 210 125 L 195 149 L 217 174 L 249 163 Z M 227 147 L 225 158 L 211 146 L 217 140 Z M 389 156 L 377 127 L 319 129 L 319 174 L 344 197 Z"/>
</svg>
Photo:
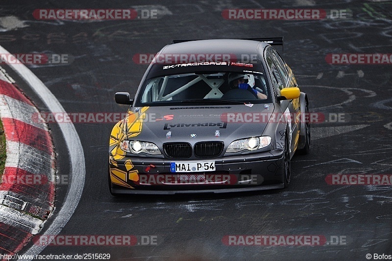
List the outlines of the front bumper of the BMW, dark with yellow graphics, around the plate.
<svg viewBox="0 0 392 261">
<path fill-rule="evenodd" d="M 215 160 L 212 172 L 171 173 L 171 162 L 156 157 L 109 158 L 112 193 L 227 193 L 284 187 L 284 153 L 273 150 Z"/>
</svg>

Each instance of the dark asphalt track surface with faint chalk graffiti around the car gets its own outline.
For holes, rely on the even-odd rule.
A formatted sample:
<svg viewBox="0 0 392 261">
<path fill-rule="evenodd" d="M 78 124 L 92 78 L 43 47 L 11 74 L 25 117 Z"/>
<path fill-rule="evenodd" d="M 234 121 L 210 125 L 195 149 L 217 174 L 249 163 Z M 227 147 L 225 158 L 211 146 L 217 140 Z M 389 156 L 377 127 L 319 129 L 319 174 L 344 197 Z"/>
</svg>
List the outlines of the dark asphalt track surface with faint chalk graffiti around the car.
<svg viewBox="0 0 392 261">
<path fill-rule="evenodd" d="M 157 20 L 37 21 L 37 8 L 158 8 Z M 2 1 L 0 17 L 25 27 L 0 32 L 11 53 L 70 53 L 69 65 L 29 66 L 67 112 L 125 112 L 114 93 L 133 95 L 147 65 L 136 53 L 155 53 L 172 39 L 284 36 L 281 52 L 309 96 L 313 112 L 344 113 L 345 122 L 313 124 L 311 152 L 294 156 L 285 190 L 224 195 L 129 196 L 107 188 L 108 141 L 113 123 L 75 124 L 86 162 L 85 186 L 60 235 L 157 235 L 158 245 L 48 246 L 41 254 L 110 253 L 111 260 L 366 260 L 392 254 L 390 185 L 328 185 L 329 174 L 390 174 L 392 167 L 392 65 L 330 65 L 328 53 L 390 53 L 390 1 Z M 226 8 L 350 9 L 352 19 L 230 21 Z M 278 51 L 281 51 L 277 48 Z M 18 80 L 18 77 L 11 73 Z M 44 104 L 20 87 L 42 111 Z M 68 177 L 69 157 L 59 128 L 49 124 L 58 175 Z M 70 179 L 72 177 L 69 177 Z M 56 211 L 68 185 L 58 184 Z M 343 236 L 323 246 L 226 246 L 224 235 Z M 345 244 L 344 244 L 345 243 Z M 32 243 L 26 246 L 28 249 Z"/>
</svg>

